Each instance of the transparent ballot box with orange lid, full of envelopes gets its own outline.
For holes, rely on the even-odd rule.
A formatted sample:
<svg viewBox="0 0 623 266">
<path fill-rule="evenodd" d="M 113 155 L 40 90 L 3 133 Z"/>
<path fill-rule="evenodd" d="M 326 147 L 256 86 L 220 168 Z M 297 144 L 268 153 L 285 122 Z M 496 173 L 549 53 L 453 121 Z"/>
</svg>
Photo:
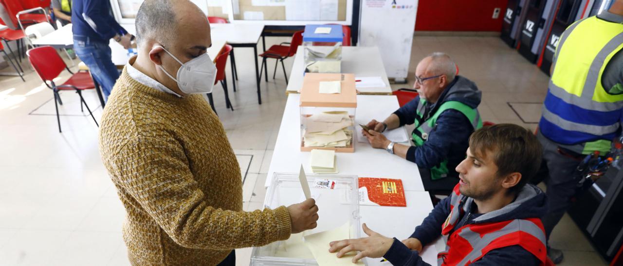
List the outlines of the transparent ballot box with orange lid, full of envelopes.
<svg viewBox="0 0 623 266">
<path fill-rule="evenodd" d="M 354 152 L 354 74 L 308 73 L 301 88 L 301 151 Z"/>
</svg>

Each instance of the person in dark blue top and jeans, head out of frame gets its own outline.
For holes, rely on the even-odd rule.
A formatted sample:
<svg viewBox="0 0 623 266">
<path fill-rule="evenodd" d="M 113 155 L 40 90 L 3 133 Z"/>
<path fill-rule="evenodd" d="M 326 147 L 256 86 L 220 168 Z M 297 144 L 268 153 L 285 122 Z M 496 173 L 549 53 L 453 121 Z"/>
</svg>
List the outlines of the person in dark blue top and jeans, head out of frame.
<svg viewBox="0 0 623 266">
<path fill-rule="evenodd" d="M 132 35 L 115 21 L 108 0 L 73 0 L 72 24 L 74 51 L 88 66 L 107 100 L 119 78 L 108 47 L 109 40 L 113 38 L 127 49 Z"/>
</svg>

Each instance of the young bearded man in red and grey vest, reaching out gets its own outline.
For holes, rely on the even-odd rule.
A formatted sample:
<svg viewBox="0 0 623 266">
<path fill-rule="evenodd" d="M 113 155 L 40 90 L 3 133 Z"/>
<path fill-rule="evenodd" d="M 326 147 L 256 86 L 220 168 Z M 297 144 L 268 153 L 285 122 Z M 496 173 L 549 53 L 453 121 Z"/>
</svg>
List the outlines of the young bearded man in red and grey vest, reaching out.
<svg viewBox="0 0 623 266">
<path fill-rule="evenodd" d="M 331 242 L 329 251 L 338 257 L 359 251 L 353 262 L 384 257 L 393 265 L 429 265 L 419 252 L 444 236 L 439 265 L 553 265 L 540 219 L 547 211 L 545 193 L 526 185 L 540 164 L 541 144 L 527 129 L 514 124 L 478 129 L 456 168 L 460 181 L 454 193 L 411 237 L 401 242 L 363 224 L 368 237 Z"/>
</svg>

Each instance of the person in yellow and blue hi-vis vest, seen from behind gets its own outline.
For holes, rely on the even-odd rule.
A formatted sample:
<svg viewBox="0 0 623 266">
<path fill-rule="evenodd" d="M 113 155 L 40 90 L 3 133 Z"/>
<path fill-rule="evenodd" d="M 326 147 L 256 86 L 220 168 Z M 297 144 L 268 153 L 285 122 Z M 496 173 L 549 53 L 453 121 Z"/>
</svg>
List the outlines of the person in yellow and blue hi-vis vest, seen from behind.
<svg viewBox="0 0 623 266">
<path fill-rule="evenodd" d="M 623 1 L 609 11 L 571 24 L 561 35 L 543 103 L 538 139 L 549 170 L 545 178 L 549 213 L 543 218 L 548 239 L 571 206 L 578 160 L 594 151 L 609 152 L 621 135 L 623 111 Z M 549 249 L 554 263 L 563 253 Z"/>
</svg>

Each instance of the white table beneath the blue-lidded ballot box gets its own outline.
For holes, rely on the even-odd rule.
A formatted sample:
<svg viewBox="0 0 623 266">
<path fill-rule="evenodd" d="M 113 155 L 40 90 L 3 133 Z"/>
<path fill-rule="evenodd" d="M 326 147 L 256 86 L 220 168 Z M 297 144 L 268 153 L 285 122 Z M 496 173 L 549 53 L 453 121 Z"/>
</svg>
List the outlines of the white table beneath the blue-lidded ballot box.
<svg viewBox="0 0 623 266">
<path fill-rule="evenodd" d="M 300 46 L 294 57 L 290 83 L 286 93 L 298 93 L 303 87 L 303 73 L 305 72 L 305 49 Z M 385 73 L 383 60 L 379 49 L 375 47 L 342 47 L 342 73 L 353 73 L 359 76 L 380 76 L 386 86 L 378 88 L 357 88 L 359 94 L 391 94 L 388 75 Z"/>
</svg>

